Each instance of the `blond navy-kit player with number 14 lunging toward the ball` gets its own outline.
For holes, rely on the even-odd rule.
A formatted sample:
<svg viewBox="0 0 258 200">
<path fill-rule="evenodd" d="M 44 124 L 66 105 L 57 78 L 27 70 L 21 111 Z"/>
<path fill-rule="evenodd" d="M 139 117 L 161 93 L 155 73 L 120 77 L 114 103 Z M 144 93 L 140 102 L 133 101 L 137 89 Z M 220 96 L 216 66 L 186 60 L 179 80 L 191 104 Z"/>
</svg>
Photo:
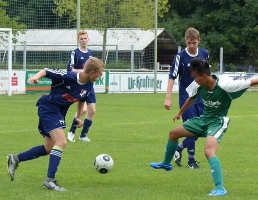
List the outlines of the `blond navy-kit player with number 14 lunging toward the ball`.
<svg viewBox="0 0 258 200">
<path fill-rule="evenodd" d="M 11 180 L 14 180 L 18 163 L 50 154 L 48 173 L 43 186 L 53 190 L 66 191 L 65 188 L 58 185 L 55 179 L 62 152 L 67 144 L 64 133 L 65 115 L 69 106 L 78 102 L 77 126 L 83 125 L 81 120 L 83 106 L 90 95 L 93 82 L 102 75 L 104 67 L 101 60 L 91 57 L 86 61 L 83 71 L 80 73 L 45 68 L 28 79 L 31 84 L 39 83 L 39 79 L 42 77 L 52 79 L 49 95 L 41 96 L 36 103 L 39 115 L 38 129 L 45 137 L 45 144 L 34 146 L 18 154 L 7 155 L 6 161 Z"/>
</svg>

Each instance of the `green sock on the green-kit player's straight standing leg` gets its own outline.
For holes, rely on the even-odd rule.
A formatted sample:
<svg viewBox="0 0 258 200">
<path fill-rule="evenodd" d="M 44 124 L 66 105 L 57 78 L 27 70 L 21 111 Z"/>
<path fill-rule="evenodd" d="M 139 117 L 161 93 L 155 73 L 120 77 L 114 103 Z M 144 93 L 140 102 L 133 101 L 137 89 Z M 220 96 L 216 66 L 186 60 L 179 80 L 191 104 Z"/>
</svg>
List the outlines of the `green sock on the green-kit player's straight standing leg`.
<svg viewBox="0 0 258 200">
<path fill-rule="evenodd" d="M 211 168 L 211 174 L 213 177 L 214 184 L 217 189 L 223 189 L 223 177 L 221 171 L 221 165 L 217 156 L 210 157 L 208 159 Z"/>
</svg>

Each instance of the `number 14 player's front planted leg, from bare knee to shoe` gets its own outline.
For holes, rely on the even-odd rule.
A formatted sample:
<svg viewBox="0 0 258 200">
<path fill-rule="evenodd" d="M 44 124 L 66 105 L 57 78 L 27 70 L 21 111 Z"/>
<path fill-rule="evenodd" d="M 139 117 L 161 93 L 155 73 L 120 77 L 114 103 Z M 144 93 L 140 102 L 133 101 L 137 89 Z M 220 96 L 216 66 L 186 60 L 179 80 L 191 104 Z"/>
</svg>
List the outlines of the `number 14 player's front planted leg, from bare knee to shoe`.
<svg viewBox="0 0 258 200">
<path fill-rule="evenodd" d="M 50 131 L 49 134 L 52 139 L 46 137 L 45 146 L 48 146 L 48 150 L 50 150 L 51 147 L 52 149 L 50 151 L 50 156 L 49 156 L 48 173 L 43 183 L 43 186 L 45 188 L 49 188 L 53 190 L 66 191 L 65 188 L 58 185 L 55 179 L 56 172 L 61 161 L 63 150 L 67 144 L 65 139 L 64 129 L 62 127 L 57 128 Z"/>
</svg>

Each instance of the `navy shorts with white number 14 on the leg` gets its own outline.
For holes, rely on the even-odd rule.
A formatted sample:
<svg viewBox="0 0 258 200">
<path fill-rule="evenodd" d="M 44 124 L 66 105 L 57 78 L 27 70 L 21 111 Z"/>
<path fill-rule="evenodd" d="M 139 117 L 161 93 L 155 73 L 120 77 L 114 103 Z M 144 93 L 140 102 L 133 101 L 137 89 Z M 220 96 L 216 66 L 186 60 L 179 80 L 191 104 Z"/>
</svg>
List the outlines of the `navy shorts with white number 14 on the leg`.
<svg viewBox="0 0 258 200">
<path fill-rule="evenodd" d="M 62 113 L 60 111 L 51 110 L 50 108 L 45 108 L 42 106 L 38 107 L 38 115 L 39 115 L 39 131 L 44 137 L 51 138 L 49 132 L 55 130 L 57 128 L 65 128 L 65 115 L 66 113 Z"/>
</svg>

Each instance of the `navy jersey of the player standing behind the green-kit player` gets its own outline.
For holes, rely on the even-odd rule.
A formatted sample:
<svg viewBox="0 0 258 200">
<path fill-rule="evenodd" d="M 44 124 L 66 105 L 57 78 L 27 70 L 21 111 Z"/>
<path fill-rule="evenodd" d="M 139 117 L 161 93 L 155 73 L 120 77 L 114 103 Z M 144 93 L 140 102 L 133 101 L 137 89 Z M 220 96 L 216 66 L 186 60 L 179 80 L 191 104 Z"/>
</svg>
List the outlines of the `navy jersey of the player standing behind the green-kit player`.
<svg viewBox="0 0 258 200">
<path fill-rule="evenodd" d="M 175 80 L 179 76 L 179 103 L 184 104 L 189 97 L 186 88 L 194 81 L 191 73 L 190 60 L 194 57 L 201 57 L 209 60 L 208 51 L 204 48 L 197 48 L 197 53 L 192 55 L 187 48 L 176 54 L 172 67 L 170 68 L 169 78 Z M 193 104 L 202 102 L 201 96 L 198 96 Z"/>
</svg>

